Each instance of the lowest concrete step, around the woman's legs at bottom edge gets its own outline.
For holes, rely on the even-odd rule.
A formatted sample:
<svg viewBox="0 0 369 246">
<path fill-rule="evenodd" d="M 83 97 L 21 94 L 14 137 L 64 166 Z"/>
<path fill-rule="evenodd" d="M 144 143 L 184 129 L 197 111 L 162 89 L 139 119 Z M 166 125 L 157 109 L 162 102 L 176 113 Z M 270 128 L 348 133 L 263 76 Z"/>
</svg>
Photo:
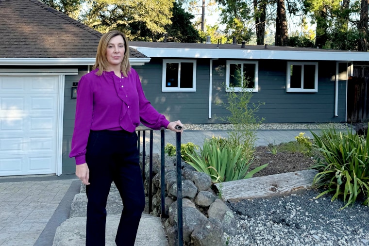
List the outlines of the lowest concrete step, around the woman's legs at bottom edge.
<svg viewBox="0 0 369 246">
<path fill-rule="evenodd" d="M 115 246 L 120 215 L 106 218 L 105 246 Z M 53 246 L 81 246 L 85 244 L 86 217 L 69 218 L 56 230 Z M 163 223 L 159 217 L 143 213 L 134 246 L 168 246 Z"/>
</svg>

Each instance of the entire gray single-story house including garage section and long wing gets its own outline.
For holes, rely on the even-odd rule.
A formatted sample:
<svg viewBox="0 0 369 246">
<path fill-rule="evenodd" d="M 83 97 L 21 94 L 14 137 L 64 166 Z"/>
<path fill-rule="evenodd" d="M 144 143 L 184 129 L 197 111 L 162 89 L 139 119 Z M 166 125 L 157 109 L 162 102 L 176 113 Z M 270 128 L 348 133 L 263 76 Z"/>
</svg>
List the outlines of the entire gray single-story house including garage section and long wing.
<svg viewBox="0 0 369 246">
<path fill-rule="evenodd" d="M 101 33 L 38 0 L 0 0 L 0 176 L 74 173 L 73 92 Z M 367 52 L 244 44 L 130 42 L 146 97 L 169 120 L 218 123 L 227 85 L 250 78 L 265 122 L 345 122 L 349 76 Z M 360 70 L 362 69 L 362 70 Z"/>
</svg>

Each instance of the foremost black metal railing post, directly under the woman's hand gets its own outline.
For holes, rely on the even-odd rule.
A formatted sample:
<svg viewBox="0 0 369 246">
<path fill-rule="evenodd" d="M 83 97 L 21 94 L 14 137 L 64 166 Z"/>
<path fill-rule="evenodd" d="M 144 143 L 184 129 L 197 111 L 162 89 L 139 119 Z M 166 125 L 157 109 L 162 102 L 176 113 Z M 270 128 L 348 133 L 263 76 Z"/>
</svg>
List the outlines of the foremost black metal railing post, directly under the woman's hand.
<svg viewBox="0 0 369 246">
<path fill-rule="evenodd" d="M 182 158 L 181 158 L 181 132 L 177 132 L 176 157 L 177 157 L 177 215 L 178 215 L 178 246 L 183 246 L 183 211 L 182 211 Z"/>
</svg>

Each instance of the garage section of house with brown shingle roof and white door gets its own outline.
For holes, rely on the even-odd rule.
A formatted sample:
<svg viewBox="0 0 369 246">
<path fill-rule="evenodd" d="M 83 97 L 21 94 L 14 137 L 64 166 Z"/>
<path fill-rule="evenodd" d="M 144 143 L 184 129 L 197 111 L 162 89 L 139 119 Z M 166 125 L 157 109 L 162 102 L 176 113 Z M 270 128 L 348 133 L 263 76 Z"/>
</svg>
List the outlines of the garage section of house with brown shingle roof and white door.
<svg viewBox="0 0 369 246">
<path fill-rule="evenodd" d="M 0 176 L 74 173 L 72 92 L 102 34 L 38 0 L 0 0 L 0 23 Z"/>
</svg>

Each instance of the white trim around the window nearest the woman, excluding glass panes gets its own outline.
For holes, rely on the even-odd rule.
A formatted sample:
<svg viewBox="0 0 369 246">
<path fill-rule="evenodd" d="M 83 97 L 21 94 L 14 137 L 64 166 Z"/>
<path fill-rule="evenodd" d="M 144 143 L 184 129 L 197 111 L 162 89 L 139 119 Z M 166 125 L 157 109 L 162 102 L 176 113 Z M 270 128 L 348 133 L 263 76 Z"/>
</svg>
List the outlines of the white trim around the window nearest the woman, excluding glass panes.
<svg viewBox="0 0 369 246">
<path fill-rule="evenodd" d="M 181 88 L 181 66 L 179 66 L 178 70 L 178 87 L 166 87 L 166 78 L 167 78 L 167 63 L 193 63 L 193 75 L 192 75 L 192 81 L 193 81 L 193 87 L 192 88 Z M 163 60 L 163 78 L 162 78 L 162 92 L 195 92 L 196 91 L 196 60 Z"/>
</svg>

